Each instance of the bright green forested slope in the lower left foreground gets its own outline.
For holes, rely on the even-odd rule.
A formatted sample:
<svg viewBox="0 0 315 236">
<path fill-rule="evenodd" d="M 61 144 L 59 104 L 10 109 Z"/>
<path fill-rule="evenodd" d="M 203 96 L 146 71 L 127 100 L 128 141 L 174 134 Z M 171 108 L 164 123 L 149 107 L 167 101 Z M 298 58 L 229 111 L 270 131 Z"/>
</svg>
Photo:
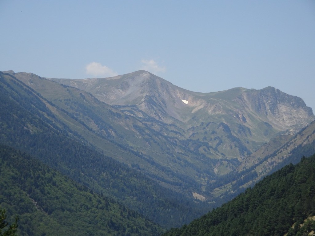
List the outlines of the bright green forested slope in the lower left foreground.
<svg viewBox="0 0 315 236">
<path fill-rule="evenodd" d="M 30 156 L 0 145 L 0 203 L 21 235 L 159 235 L 162 228 Z M 14 229 L 15 225 L 13 225 Z"/>
</svg>

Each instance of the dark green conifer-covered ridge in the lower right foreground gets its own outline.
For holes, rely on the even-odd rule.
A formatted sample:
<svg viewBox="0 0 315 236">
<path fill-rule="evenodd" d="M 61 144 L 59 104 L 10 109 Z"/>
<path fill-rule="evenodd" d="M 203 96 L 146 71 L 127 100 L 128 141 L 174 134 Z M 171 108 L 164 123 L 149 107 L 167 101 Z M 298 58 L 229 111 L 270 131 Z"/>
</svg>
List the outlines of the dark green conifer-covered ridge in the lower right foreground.
<svg viewBox="0 0 315 236">
<path fill-rule="evenodd" d="M 285 166 L 230 202 L 163 235 L 308 235 L 315 221 L 301 224 L 314 215 L 315 155 Z"/>
</svg>

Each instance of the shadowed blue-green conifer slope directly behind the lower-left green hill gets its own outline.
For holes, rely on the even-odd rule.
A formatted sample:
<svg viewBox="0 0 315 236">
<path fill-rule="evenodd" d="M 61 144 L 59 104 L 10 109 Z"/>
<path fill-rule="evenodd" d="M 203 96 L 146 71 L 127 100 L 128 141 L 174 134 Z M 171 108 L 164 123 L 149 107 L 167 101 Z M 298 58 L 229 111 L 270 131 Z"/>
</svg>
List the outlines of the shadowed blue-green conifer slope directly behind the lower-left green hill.
<svg viewBox="0 0 315 236">
<path fill-rule="evenodd" d="M 77 183 L 116 199 L 164 228 L 181 226 L 206 212 L 203 203 L 196 204 L 192 197 L 189 199 L 177 191 L 165 188 L 139 170 L 104 155 L 105 150 L 95 148 L 70 127 L 76 125 L 78 131 L 82 129 L 89 132 L 84 122 L 71 118 L 72 113 L 45 100 L 12 76 L 0 74 L 0 78 L 1 144 L 28 153 Z M 105 106 L 108 108 L 106 104 Z M 63 113 L 67 119 L 61 120 L 49 108 L 57 110 L 56 113 Z M 104 116 L 109 119 L 109 114 L 111 113 Z M 128 147 L 109 143 L 108 140 L 111 139 L 113 138 L 103 139 L 107 151 L 112 151 L 121 158 L 145 158 Z M 151 166 L 156 165 L 153 160 L 150 161 Z M 167 169 L 164 171 L 175 176 L 175 179 L 180 176 Z M 188 186 L 195 183 L 188 178 L 180 182 L 185 182 Z M 170 180 L 169 184 L 175 185 L 174 188 L 182 186 Z"/>
</svg>

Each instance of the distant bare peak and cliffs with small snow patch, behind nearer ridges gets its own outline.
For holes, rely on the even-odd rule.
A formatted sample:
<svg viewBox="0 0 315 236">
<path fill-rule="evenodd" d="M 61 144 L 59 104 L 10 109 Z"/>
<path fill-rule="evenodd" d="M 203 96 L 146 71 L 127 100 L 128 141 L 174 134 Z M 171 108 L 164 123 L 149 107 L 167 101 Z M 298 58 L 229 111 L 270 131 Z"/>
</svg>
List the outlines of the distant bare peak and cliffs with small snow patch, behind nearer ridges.
<svg viewBox="0 0 315 236">
<path fill-rule="evenodd" d="M 107 104 L 123 106 L 120 110 L 135 105 L 152 118 L 181 127 L 185 138 L 199 138 L 230 158 L 254 152 L 279 134 L 294 134 L 314 120 L 312 109 L 301 98 L 273 87 L 196 93 L 143 70 L 111 78 L 51 80 L 85 90 Z M 226 142 L 218 145 L 216 137 L 222 138 L 220 135 L 205 133 L 219 134 L 219 126 L 225 127 L 223 136 L 240 140 L 242 147 Z"/>
</svg>

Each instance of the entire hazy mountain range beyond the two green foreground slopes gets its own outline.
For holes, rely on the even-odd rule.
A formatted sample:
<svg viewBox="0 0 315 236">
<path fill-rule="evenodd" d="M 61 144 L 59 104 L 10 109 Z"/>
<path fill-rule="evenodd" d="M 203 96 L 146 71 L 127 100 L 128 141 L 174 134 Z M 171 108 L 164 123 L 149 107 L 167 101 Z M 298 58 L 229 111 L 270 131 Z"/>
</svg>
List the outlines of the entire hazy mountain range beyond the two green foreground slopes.
<svg viewBox="0 0 315 236">
<path fill-rule="evenodd" d="M 197 93 L 142 70 L 80 80 L 0 76 L 2 144 L 164 228 L 315 153 L 312 109 L 273 87 Z"/>
</svg>

